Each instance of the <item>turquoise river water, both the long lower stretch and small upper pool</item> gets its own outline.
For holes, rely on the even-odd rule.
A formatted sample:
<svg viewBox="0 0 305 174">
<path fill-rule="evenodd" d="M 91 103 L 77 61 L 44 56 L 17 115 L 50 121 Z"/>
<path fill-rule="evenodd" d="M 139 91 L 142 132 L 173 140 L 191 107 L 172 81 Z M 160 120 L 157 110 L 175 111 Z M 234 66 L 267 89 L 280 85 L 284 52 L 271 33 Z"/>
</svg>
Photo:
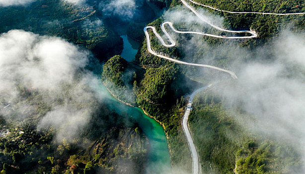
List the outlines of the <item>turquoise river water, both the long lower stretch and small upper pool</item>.
<svg viewBox="0 0 305 174">
<path fill-rule="evenodd" d="M 133 40 L 127 38 L 127 36 L 123 36 L 123 41 L 124 50 L 121 56 L 124 56 L 130 62 L 135 59 L 140 44 L 130 42 Z M 144 114 L 139 107 L 131 107 L 115 99 L 102 84 L 98 85 L 98 91 L 100 91 L 101 98 L 111 110 L 121 115 L 127 114 L 129 117 L 135 119 L 148 137 L 150 149 L 145 174 L 170 174 L 170 156 L 163 127 L 153 118 Z"/>
</svg>

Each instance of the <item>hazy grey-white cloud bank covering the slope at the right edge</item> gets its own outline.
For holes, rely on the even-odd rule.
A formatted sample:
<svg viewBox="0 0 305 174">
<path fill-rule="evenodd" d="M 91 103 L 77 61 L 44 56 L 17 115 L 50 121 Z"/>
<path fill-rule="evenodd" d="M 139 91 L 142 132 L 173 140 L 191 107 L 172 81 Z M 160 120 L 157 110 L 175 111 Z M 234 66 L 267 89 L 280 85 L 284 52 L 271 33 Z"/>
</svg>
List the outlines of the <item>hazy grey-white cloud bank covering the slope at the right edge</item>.
<svg viewBox="0 0 305 174">
<path fill-rule="evenodd" d="M 215 91 L 226 96 L 227 104 L 237 104 L 253 115 L 251 120 L 239 118 L 241 125 L 289 142 L 305 159 L 305 40 L 302 35 L 284 33 L 272 47 L 256 50 L 268 56 L 236 61 L 238 80 L 215 87 Z M 251 53 L 235 53 L 236 58 L 243 54 Z"/>
</svg>

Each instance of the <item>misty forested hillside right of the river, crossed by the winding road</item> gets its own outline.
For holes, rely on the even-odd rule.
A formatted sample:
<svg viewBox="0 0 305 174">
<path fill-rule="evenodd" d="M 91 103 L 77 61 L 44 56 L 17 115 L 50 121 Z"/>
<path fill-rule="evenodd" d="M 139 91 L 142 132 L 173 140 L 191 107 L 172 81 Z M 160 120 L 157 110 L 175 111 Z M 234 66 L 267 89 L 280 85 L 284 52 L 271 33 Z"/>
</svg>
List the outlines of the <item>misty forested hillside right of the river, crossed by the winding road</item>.
<svg viewBox="0 0 305 174">
<path fill-rule="evenodd" d="M 172 48 L 163 47 L 153 32 L 149 30 L 154 52 L 186 62 L 203 63 L 234 71 L 240 68 L 237 65 L 241 62 L 270 63 L 275 59 L 273 54 L 277 52 L 273 50 L 272 42 L 279 39 L 283 31 L 300 34 L 305 28 L 305 15 L 230 14 L 186 1 L 201 12 L 203 9 L 205 9 L 203 11 L 209 11 L 209 15 L 207 14 L 209 19 L 213 19 L 213 15 L 214 19 L 220 19 L 219 16 L 222 16 L 223 21 L 216 21 L 216 23 L 223 23 L 223 28 L 231 30 L 252 29 L 258 34 L 258 38 L 232 41 L 192 34 L 175 34 L 170 31 L 169 27 L 166 27 L 168 33 L 174 36 L 177 44 Z M 305 11 L 305 2 L 300 0 L 195 1 L 229 11 L 276 13 Z M 186 12 L 179 13 L 182 10 Z M 160 24 L 166 20 L 174 20 L 172 18 L 176 16 L 182 18 L 184 14 L 187 14 L 187 11 L 180 0 L 172 0 L 167 10 L 170 15 L 165 12 L 163 16 L 148 26 L 154 26 L 162 36 Z M 213 21 L 211 22 L 213 23 Z M 174 27 L 181 31 L 196 30 L 220 36 L 231 36 L 229 33 L 211 29 L 201 23 L 185 20 L 180 22 L 176 20 L 173 23 Z M 163 39 L 165 40 L 165 37 Z M 262 46 L 265 46 L 265 50 L 268 51 L 258 49 Z M 140 82 L 136 81 L 134 86 L 137 104 L 164 126 L 168 136 L 173 169 L 179 169 L 175 173 L 183 173 L 181 172 L 183 170 L 190 172 L 190 152 L 181 128 L 187 94 L 203 84 L 229 80 L 230 77 L 221 72 L 181 66 L 153 56 L 147 51 L 146 39 L 143 39 L 143 46 L 134 63 L 145 70 Z M 202 84 L 199 85 L 190 79 Z M 208 100 L 204 99 L 209 97 Z M 300 162 L 301 157 L 297 155 L 294 148 L 285 142 L 257 135 L 244 129 L 242 125 L 232 119 L 232 115 L 239 113 L 224 108 L 221 97 L 212 96 L 212 98 L 207 95 L 198 97 L 195 100 L 195 109 L 190 116 L 191 131 L 199 150 L 203 172 L 231 174 L 235 171 L 236 174 L 289 174 L 292 170 L 297 173 L 301 171 L 303 167 Z M 248 113 L 242 113 L 238 116 L 242 117 L 243 114 L 249 116 Z"/>
</svg>

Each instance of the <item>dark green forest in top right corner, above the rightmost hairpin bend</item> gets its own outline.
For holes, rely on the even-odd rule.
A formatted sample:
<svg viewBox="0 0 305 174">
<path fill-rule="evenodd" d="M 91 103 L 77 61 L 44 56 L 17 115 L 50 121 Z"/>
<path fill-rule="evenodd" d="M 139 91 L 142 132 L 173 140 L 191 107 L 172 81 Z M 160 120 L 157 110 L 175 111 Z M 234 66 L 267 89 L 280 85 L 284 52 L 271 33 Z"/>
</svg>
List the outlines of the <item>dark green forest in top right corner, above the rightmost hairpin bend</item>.
<svg viewBox="0 0 305 174">
<path fill-rule="evenodd" d="M 301 0 L 195 0 L 201 4 L 210 5 L 221 10 L 228 11 L 254 11 L 272 13 L 296 13 L 305 12 L 305 3 Z M 191 3 L 191 2 L 190 2 Z M 192 3 L 191 3 L 192 4 Z M 200 8 L 199 5 L 192 4 Z M 224 24 L 232 29 L 253 29 L 259 35 L 256 43 L 261 44 L 279 34 L 282 29 L 294 31 L 304 30 L 305 15 L 262 15 L 262 14 L 232 14 L 208 9 L 224 16 Z M 256 45 L 255 44 L 255 45 Z"/>
</svg>

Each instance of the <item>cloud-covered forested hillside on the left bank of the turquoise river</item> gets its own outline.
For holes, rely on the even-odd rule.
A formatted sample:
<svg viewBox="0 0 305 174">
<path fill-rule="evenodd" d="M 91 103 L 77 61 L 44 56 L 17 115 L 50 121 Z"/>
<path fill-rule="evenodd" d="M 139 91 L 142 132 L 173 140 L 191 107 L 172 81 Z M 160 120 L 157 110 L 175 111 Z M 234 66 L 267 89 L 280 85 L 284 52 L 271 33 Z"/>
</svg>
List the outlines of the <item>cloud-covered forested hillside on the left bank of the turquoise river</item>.
<svg viewBox="0 0 305 174">
<path fill-rule="evenodd" d="M 1 174 L 144 172 L 148 139 L 109 108 L 88 50 L 10 30 L 0 53 Z"/>
</svg>

